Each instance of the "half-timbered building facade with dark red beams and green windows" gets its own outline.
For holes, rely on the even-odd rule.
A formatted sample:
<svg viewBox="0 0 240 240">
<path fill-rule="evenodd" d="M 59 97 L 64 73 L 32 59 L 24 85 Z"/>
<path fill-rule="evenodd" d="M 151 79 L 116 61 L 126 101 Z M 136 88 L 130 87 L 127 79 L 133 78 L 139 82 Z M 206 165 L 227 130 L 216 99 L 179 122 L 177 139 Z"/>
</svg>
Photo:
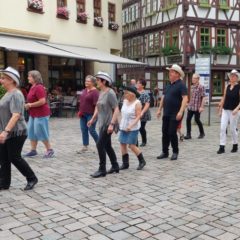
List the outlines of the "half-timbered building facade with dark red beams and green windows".
<svg viewBox="0 0 240 240">
<path fill-rule="evenodd" d="M 199 57 L 211 58 L 211 96 L 218 99 L 227 73 L 240 68 L 240 1 L 123 0 L 123 57 L 148 65 L 118 66 L 123 83 L 145 78 L 147 88 L 164 88 L 166 67 L 185 71 L 188 87 Z"/>
</svg>

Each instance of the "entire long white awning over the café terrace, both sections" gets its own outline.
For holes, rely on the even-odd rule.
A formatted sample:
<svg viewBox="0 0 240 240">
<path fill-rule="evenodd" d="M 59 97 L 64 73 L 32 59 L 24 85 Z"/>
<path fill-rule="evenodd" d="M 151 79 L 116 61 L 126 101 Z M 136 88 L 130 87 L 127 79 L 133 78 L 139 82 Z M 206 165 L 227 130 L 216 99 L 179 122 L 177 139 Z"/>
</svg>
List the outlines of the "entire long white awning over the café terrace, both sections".
<svg viewBox="0 0 240 240">
<path fill-rule="evenodd" d="M 63 45 L 36 39 L 0 35 L 0 48 L 8 51 L 43 54 L 56 57 L 77 58 L 103 63 L 119 63 L 130 65 L 146 65 L 145 63 L 122 58 L 96 48 Z"/>
</svg>

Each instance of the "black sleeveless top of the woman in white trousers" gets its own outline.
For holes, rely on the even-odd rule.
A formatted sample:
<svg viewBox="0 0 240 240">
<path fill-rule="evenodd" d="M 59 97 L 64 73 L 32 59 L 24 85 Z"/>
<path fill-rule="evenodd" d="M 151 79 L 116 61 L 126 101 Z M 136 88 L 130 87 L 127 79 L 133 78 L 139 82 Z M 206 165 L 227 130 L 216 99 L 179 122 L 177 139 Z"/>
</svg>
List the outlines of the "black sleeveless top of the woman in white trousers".
<svg viewBox="0 0 240 240">
<path fill-rule="evenodd" d="M 223 109 L 225 110 L 234 110 L 237 107 L 240 101 L 240 85 L 236 84 L 233 89 L 230 89 L 231 85 L 227 86 L 225 101 L 223 104 Z"/>
</svg>

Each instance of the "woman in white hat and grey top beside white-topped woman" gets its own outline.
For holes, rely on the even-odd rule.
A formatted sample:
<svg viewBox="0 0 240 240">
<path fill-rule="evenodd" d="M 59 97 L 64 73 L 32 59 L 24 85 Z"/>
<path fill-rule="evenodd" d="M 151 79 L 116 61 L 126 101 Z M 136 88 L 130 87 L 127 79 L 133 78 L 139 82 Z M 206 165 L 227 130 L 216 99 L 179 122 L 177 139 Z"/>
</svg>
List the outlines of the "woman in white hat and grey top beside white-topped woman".
<svg viewBox="0 0 240 240">
<path fill-rule="evenodd" d="M 88 122 L 90 127 L 98 116 L 99 138 L 97 150 L 99 155 L 99 169 L 91 174 L 93 178 L 105 177 L 107 173 L 118 173 L 119 165 L 117 156 L 112 148 L 111 136 L 117 124 L 119 114 L 118 101 L 115 92 L 110 88 L 112 79 L 106 72 L 98 72 L 95 76 L 97 85 L 100 88 L 100 95 L 91 120 Z M 106 171 L 106 154 L 111 162 L 111 169 Z"/>
</svg>

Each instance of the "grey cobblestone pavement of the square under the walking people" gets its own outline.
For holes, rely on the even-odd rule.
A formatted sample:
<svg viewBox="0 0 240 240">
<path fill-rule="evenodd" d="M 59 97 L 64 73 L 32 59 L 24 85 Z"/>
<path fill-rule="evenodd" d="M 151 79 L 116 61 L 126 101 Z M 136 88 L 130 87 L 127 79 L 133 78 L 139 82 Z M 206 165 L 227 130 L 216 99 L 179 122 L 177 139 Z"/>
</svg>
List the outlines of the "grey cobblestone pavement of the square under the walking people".
<svg viewBox="0 0 240 240">
<path fill-rule="evenodd" d="M 92 139 L 91 151 L 76 154 L 79 120 L 51 119 L 56 156 L 43 159 L 39 144 L 39 156 L 28 159 L 39 178 L 33 191 L 22 190 L 25 180 L 12 169 L 10 190 L 0 192 L 0 239 L 240 239 L 240 157 L 230 153 L 229 138 L 226 153 L 216 154 L 218 121 L 205 126 L 204 139 L 193 126 L 193 139 L 180 143 L 178 161 L 170 161 L 156 159 L 161 121 L 153 116 L 144 170 L 136 170 L 130 154 L 130 169 L 92 179 L 98 167 Z M 121 162 L 116 135 L 113 142 Z"/>
</svg>

